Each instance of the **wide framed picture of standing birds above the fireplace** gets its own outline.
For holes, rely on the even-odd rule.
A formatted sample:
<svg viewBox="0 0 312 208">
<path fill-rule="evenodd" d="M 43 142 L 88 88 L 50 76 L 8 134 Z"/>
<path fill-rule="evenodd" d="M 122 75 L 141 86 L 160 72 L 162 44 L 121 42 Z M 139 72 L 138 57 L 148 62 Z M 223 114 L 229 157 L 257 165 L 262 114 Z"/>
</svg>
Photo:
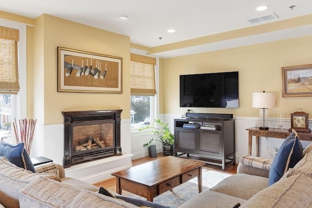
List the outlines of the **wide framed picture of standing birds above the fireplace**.
<svg viewBox="0 0 312 208">
<path fill-rule="evenodd" d="M 122 93 L 122 60 L 58 47 L 58 92 Z"/>
</svg>

